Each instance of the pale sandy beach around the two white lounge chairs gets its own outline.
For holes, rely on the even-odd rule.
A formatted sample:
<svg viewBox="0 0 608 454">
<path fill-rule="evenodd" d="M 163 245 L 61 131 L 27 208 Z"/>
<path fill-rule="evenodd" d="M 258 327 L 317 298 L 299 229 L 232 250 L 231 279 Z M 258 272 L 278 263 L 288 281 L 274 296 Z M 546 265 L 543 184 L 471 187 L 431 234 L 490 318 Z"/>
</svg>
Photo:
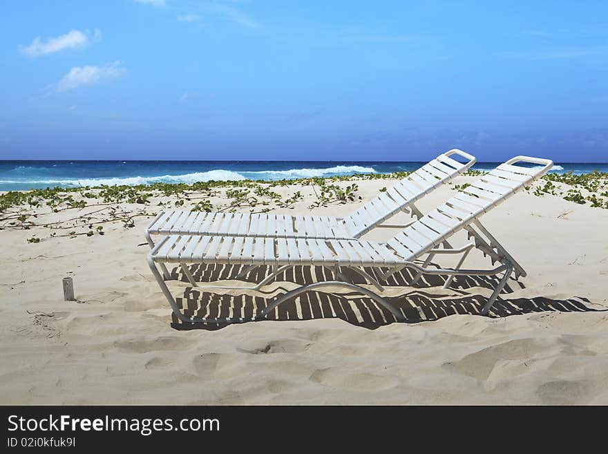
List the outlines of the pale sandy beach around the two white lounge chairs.
<svg viewBox="0 0 608 454">
<path fill-rule="evenodd" d="M 419 208 L 439 205 L 473 178 L 458 177 Z M 344 216 L 395 181 L 337 182 L 357 185 L 353 200 L 313 208 L 318 195 L 311 185 L 272 187 L 282 200 L 301 194 L 291 207 L 235 209 Z M 533 187 L 486 214 L 486 227 L 528 273 L 509 281 L 491 316 L 477 312 L 493 281 L 461 278 L 444 290 L 424 278 L 415 287 L 388 287 L 391 299 L 411 305 L 408 323 L 383 323 L 359 296 L 318 293 L 272 320 L 180 330 L 146 263 L 144 228 L 152 213 L 178 200 L 180 209 L 205 200 L 226 209 L 229 189 L 199 191 L 190 200 L 124 200 L 124 216 L 117 217 L 128 220 L 100 223 L 103 235 L 97 225 L 88 228 L 95 220 L 82 222 L 103 206 L 57 213 L 25 206 L 38 214 L 28 217 L 31 227 L 4 223 L 0 404 L 608 404 L 608 209 L 551 191 L 537 196 Z M 90 199 L 103 203 L 96 196 Z M 142 211 L 149 215 L 129 218 Z M 408 219 L 399 216 L 395 222 Z M 73 230 L 39 227 L 77 217 Z M 388 240 L 397 231 L 374 229 L 363 238 Z M 466 235 L 454 243 L 464 245 Z M 474 249 L 466 267 L 491 263 Z M 200 271 L 202 278 L 213 275 Z M 78 301 L 63 301 L 66 276 Z M 208 300 L 181 278 L 169 286 L 181 301 Z M 293 287 L 280 278 L 249 294 L 272 298 Z M 222 304 L 245 298 L 221 293 L 229 295 Z"/>
</svg>

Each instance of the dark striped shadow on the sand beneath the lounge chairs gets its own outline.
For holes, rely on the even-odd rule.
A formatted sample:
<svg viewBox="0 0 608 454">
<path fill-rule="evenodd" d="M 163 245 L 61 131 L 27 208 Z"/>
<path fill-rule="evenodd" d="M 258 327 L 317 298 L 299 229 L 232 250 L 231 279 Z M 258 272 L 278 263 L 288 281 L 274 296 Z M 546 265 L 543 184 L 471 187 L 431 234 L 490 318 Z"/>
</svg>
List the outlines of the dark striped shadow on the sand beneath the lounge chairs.
<svg viewBox="0 0 608 454">
<path fill-rule="evenodd" d="M 197 282 L 213 282 L 235 278 L 241 271 L 235 265 L 193 265 L 189 267 Z M 373 269 L 366 269 L 374 272 Z M 356 284 L 365 283 L 354 273 L 343 270 L 348 278 Z M 179 267 L 171 272 L 173 278 L 187 282 Z M 241 281 L 257 283 L 269 274 L 269 267 L 258 267 L 247 274 Z M 398 308 L 405 315 L 406 323 L 419 323 L 421 321 L 435 321 L 453 314 L 479 315 L 487 301 L 486 296 L 469 294 L 466 289 L 482 287 L 493 289 L 497 281 L 491 276 L 458 276 L 450 289 L 441 292 L 428 293 L 424 289 L 439 287 L 445 283 L 443 276 L 423 276 L 415 285 L 408 286 L 412 280 L 410 270 L 403 270 L 388 280 L 387 287 L 406 287 L 404 292 L 396 296 L 384 296 L 386 300 Z M 332 281 L 334 276 L 330 269 L 323 267 L 294 267 L 280 274 L 277 282 L 289 281 L 298 284 L 318 281 Z M 518 281 L 510 280 L 511 285 L 524 285 Z M 272 292 L 258 291 L 254 294 L 222 294 L 221 290 L 205 291 L 202 287 L 187 287 L 181 297 L 175 299 L 182 312 L 187 316 L 208 316 L 210 318 L 243 318 L 251 320 L 254 314 L 267 307 L 269 303 L 287 292 L 281 286 Z M 454 296 L 454 292 L 459 295 Z M 531 299 L 506 297 L 513 293 L 509 284 L 504 287 L 500 298 L 494 303 L 490 316 L 506 317 L 530 312 L 604 312 L 590 308 L 588 299 L 573 297 L 566 300 L 549 299 L 536 296 Z M 342 319 L 352 325 L 368 328 L 370 330 L 383 325 L 397 323 L 395 316 L 372 299 L 356 292 L 315 292 L 310 291 L 283 302 L 274 311 L 267 314 L 264 320 L 274 321 L 300 321 L 311 319 Z M 178 330 L 218 330 L 225 328 L 227 323 L 183 323 L 172 314 L 171 326 Z"/>
</svg>

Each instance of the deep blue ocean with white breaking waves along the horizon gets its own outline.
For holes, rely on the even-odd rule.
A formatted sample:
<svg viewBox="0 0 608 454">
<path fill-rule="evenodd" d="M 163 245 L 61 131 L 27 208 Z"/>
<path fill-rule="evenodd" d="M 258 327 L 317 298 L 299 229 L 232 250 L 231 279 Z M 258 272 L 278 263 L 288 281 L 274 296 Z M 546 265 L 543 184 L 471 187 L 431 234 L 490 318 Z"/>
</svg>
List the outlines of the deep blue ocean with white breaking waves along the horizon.
<svg viewBox="0 0 608 454">
<path fill-rule="evenodd" d="M 281 180 L 413 171 L 424 162 L 333 161 L 35 161 L 0 160 L 0 191 L 46 187 L 192 183 L 209 180 Z M 490 170 L 497 162 L 479 162 Z M 608 164 L 563 162 L 552 171 L 608 172 Z"/>
</svg>

